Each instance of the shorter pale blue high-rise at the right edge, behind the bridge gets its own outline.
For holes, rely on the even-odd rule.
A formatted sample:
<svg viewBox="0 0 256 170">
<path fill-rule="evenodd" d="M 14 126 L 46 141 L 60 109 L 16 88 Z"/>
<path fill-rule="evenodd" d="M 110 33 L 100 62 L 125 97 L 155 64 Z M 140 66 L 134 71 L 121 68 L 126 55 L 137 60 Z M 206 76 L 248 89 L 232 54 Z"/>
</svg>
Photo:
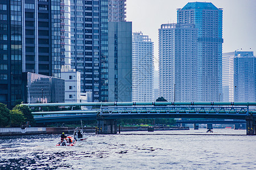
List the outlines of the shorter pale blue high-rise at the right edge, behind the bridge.
<svg viewBox="0 0 256 170">
<path fill-rule="evenodd" d="M 222 54 L 224 101 L 256 101 L 256 57 L 253 52 Z"/>
</svg>

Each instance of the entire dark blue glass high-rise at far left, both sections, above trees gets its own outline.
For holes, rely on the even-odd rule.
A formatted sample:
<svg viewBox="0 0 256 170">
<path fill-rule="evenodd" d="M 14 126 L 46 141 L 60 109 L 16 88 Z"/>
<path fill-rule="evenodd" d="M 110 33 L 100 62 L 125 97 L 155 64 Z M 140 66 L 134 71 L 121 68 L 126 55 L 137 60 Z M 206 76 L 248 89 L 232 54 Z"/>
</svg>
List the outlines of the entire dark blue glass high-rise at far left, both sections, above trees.
<svg viewBox="0 0 256 170">
<path fill-rule="evenodd" d="M 60 1 L 0 2 L 0 102 L 22 99 L 22 72 L 60 78 Z"/>
</svg>

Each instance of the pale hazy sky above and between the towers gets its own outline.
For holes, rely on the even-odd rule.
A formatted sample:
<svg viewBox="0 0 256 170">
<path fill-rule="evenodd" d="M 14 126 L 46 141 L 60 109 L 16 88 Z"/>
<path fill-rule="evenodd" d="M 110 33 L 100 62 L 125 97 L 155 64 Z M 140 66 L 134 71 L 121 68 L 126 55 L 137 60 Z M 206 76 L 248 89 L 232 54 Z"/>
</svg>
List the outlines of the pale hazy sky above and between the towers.
<svg viewBox="0 0 256 170">
<path fill-rule="evenodd" d="M 155 45 L 158 58 L 158 29 L 164 23 L 177 22 L 177 8 L 184 7 L 185 0 L 126 0 L 127 21 L 133 22 L 133 32 L 148 35 Z M 197 0 L 197 2 L 205 2 Z M 223 8 L 223 50 L 252 50 L 256 55 L 256 0 L 212 0 L 217 8 Z M 251 48 L 251 49 L 250 49 Z"/>
</svg>

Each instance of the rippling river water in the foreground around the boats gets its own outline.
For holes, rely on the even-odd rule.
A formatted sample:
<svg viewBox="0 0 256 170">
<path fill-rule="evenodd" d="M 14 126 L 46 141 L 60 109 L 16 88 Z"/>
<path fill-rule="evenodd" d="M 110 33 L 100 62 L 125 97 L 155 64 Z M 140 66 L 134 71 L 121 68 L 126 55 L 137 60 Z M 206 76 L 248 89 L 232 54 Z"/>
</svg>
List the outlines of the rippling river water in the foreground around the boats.
<svg viewBox="0 0 256 170">
<path fill-rule="evenodd" d="M 60 135 L 0 137 L 1 169 L 256 169 L 256 136 L 205 129 L 88 134 L 74 147 Z"/>
</svg>

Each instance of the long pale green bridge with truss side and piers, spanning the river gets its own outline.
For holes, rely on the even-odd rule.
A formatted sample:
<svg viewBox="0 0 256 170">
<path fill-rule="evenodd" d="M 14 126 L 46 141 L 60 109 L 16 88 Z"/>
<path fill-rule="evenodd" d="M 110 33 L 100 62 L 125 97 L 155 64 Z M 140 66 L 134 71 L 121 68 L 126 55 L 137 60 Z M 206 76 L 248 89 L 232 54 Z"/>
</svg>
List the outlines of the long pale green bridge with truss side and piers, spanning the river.
<svg viewBox="0 0 256 170">
<path fill-rule="evenodd" d="M 23 104 L 28 107 L 94 106 L 98 109 L 85 111 L 33 112 L 37 122 L 56 120 L 95 120 L 102 133 L 117 133 L 115 120 L 124 118 L 218 118 L 245 120 L 247 135 L 255 135 L 256 103 L 233 102 L 95 102 L 95 103 L 37 103 Z M 39 117 L 40 115 L 40 117 Z M 54 115 L 54 116 L 53 116 Z"/>
</svg>

